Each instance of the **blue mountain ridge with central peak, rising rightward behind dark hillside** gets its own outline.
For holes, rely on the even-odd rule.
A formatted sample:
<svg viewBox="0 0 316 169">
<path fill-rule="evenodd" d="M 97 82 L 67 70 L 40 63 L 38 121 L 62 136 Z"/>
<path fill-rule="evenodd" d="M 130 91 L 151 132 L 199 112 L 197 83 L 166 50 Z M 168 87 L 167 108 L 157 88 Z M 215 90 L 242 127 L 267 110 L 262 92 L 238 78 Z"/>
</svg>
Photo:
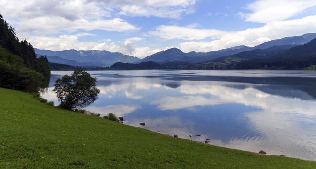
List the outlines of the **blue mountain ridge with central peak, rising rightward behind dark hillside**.
<svg viewBox="0 0 316 169">
<path fill-rule="evenodd" d="M 295 45 L 301 45 L 310 42 L 312 39 L 316 38 L 316 33 L 304 34 L 302 36 L 293 36 L 286 37 L 278 40 L 272 40 L 269 42 L 265 42 L 255 47 L 248 46 L 236 46 L 228 49 L 223 49 L 220 51 L 211 51 L 211 52 L 189 52 L 184 53 L 177 48 L 171 48 L 166 51 L 160 51 L 151 56 L 147 56 L 142 60 L 139 60 L 135 63 L 154 61 L 159 64 L 166 65 L 169 62 L 170 64 L 175 65 L 175 63 L 181 64 L 192 64 L 192 63 L 200 63 L 209 60 L 213 60 L 222 56 L 230 56 L 234 54 L 238 54 L 245 51 L 252 51 L 254 49 L 268 49 L 273 46 L 283 46 L 283 47 L 293 47 Z"/>
</svg>

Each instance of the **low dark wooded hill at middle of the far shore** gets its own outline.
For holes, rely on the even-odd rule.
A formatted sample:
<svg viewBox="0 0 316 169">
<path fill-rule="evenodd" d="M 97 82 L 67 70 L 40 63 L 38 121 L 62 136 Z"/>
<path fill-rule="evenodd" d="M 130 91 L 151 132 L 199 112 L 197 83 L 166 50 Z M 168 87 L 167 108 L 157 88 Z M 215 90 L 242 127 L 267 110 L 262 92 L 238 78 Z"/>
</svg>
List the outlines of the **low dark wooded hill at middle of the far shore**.
<svg viewBox="0 0 316 169">
<path fill-rule="evenodd" d="M 162 66 L 156 62 L 142 62 L 142 63 L 114 63 L 111 70 L 140 70 L 140 69 L 159 69 Z"/>
</svg>

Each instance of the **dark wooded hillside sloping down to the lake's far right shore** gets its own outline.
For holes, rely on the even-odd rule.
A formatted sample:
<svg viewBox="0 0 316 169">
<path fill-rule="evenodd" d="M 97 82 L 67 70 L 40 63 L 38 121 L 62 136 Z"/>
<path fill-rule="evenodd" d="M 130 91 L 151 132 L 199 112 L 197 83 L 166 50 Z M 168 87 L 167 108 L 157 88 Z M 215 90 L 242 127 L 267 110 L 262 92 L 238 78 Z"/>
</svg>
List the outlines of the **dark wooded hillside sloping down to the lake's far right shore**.
<svg viewBox="0 0 316 169">
<path fill-rule="evenodd" d="M 303 45 L 273 46 L 223 56 L 191 68 L 200 69 L 315 69 L 316 38 Z"/>
</svg>

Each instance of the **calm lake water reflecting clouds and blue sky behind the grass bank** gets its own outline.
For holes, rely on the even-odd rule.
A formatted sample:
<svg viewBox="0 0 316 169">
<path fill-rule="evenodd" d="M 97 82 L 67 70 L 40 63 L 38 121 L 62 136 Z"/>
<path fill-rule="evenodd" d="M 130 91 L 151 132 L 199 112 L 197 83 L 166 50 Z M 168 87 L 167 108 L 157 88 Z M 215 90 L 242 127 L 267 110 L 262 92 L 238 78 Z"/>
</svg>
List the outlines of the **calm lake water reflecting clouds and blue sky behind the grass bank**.
<svg viewBox="0 0 316 169">
<path fill-rule="evenodd" d="M 52 71 L 45 99 L 57 78 Z M 99 99 L 86 110 L 209 144 L 316 161 L 316 71 L 89 71 Z M 189 137 L 189 134 L 192 137 Z M 201 134 L 201 136 L 196 136 Z"/>
</svg>

